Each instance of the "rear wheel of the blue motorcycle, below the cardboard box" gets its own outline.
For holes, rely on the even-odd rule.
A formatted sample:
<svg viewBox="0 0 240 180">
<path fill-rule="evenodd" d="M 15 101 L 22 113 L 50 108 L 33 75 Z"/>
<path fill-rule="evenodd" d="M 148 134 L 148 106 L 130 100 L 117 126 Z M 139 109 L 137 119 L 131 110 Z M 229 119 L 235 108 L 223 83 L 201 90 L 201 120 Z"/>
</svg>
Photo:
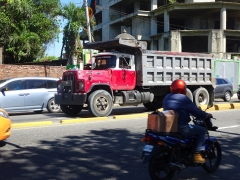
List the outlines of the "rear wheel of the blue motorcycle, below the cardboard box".
<svg viewBox="0 0 240 180">
<path fill-rule="evenodd" d="M 152 180 L 170 180 L 173 178 L 175 170 L 170 168 L 171 150 L 162 147 L 150 159 L 148 163 L 148 173 Z"/>
</svg>

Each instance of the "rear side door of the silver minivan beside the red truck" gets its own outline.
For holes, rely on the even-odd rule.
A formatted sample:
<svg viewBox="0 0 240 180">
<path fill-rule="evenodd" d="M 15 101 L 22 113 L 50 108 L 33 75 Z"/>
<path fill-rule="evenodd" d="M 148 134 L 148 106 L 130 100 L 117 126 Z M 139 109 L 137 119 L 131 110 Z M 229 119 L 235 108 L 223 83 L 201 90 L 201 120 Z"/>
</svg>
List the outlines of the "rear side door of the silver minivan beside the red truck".
<svg viewBox="0 0 240 180">
<path fill-rule="evenodd" d="M 27 79 L 24 106 L 26 110 L 41 110 L 46 104 L 46 80 Z"/>
</svg>

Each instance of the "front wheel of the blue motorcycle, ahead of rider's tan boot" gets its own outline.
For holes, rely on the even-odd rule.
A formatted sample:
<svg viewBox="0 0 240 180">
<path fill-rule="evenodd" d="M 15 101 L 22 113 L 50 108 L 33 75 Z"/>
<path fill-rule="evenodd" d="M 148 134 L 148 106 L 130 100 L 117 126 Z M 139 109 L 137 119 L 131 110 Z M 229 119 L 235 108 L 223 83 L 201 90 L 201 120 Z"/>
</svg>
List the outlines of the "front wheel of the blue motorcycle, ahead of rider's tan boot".
<svg viewBox="0 0 240 180">
<path fill-rule="evenodd" d="M 218 142 L 209 143 L 206 162 L 202 165 L 208 173 L 215 172 L 222 160 L 222 149 Z"/>
</svg>

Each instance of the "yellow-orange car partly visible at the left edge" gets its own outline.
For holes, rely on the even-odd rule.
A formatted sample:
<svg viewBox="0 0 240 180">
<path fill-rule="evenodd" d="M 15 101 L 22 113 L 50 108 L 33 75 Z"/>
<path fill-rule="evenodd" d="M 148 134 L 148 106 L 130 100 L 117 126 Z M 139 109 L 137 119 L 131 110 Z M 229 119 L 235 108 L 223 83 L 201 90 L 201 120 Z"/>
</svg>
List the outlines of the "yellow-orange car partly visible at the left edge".
<svg viewBox="0 0 240 180">
<path fill-rule="evenodd" d="M 11 120 L 8 113 L 0 108 L 0 144 L 11 135 Z M 5 145 L 5 144 L 4 144 Z"/>
</svg>

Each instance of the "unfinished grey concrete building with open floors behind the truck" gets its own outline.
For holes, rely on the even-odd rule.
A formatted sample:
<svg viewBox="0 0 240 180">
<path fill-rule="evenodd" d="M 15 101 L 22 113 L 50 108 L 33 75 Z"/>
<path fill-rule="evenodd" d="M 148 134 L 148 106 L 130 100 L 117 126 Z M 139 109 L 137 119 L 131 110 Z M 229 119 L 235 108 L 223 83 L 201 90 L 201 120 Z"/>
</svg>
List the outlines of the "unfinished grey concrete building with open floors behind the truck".
<svg viewBox="0 0 240 180">
<path fill-rule="evenodd" d="M 126 29 L 147 41 L 148 49 L 240 59 L 240 1 L 170 1 L 96 0 L 94 40 L 113 39 Z"/>
</svg>

